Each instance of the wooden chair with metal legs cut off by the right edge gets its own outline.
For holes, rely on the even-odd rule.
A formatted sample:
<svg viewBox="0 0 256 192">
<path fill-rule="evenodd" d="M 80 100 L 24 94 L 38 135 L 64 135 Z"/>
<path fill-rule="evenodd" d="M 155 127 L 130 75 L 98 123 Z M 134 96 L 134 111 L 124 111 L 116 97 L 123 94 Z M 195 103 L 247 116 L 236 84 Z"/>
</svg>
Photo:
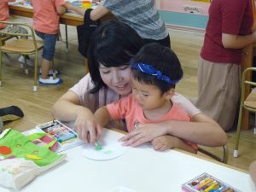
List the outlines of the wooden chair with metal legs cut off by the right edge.
<svg viewBox="0 0 256 192">
<path fill-rule="evenodd" d="M 252 89 L 247 98 L 245 98 L 245 90 L 247 86 L 256 86 L 256 82 L 251 81 L 250 77 L 253 71 L 256 71 L 256 67 L 248 67 L 241 75 L 241 102 L 239 108 L 238 125 L 236 131 L 236 143 L 234 149 L 234 157 L 238 157 L 238 145 L 241 133 L 241 119 L 243 109 L 247 109 L 249 112 L 256 113 L 256 89 Z M 254 128 L 254 134 L 256 134 L 256 128 Z"/>
</svg>

